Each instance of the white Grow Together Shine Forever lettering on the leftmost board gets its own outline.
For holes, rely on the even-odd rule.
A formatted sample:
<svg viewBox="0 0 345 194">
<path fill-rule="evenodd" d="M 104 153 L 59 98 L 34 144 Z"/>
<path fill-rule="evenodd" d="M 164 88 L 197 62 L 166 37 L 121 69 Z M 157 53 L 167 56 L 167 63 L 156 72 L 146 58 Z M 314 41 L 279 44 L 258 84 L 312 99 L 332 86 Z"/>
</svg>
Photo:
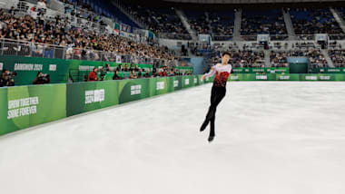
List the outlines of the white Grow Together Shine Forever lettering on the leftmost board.
<svg viewBox="0 0 345 194">
<path fill-rule="evenodd" d="M 37 112 L 36 105 L 38 104 L 38 96 L 9 101 L 7 119 L 35 114 Z"/>
</svg>

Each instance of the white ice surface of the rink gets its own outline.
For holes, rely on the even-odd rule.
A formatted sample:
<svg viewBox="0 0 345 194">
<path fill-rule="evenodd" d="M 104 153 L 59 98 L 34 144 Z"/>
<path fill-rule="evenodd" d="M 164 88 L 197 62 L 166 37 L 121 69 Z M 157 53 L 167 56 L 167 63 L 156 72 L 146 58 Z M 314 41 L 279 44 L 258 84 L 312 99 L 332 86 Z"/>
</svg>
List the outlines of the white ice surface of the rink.
<svg viewBox="0 0 345 194">
<path fill-rule="evenodd" d="M 345 193 L 345 82 L 229 82 L 210 144 L 211 87 L 0 138 L 0 193 Z"/>
</svg>

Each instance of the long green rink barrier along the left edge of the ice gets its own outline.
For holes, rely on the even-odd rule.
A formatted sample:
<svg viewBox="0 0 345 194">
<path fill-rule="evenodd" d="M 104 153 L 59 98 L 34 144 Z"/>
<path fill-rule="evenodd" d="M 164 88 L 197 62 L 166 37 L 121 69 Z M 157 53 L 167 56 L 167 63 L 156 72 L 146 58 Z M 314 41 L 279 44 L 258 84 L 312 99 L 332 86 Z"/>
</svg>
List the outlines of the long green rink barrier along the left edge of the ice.
<svg viewBox="0 0 345 194">
<path fill-rule="evenodd" d="M 0 135 L 201 85 L 201 75 L 0 88 Z"/>
</svg>

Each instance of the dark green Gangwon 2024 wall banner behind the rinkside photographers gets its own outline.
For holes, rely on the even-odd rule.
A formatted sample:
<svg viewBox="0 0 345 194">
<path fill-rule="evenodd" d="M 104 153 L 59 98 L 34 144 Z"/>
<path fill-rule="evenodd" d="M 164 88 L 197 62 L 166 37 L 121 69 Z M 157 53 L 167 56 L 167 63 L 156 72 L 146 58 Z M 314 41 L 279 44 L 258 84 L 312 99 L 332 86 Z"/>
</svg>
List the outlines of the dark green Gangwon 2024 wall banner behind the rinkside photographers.
<svg viewBox="0 0 345 194">
<path fill-rule="evenodd" d="M 87 77 L 94 67 L 104 67 L 109 63 L 110 67 L 117 67 L 119 63 L 114 62 L 95 62 L 95 61 L 81 61 L 81 60 L 63 60 L 63 59 L 47 59 L 21 56 L 0 56 L 0 64 L 2 69 L 7 69 L 11 72 L 16 72 L 17 76 L 14 78 L 15 85 L 31 85 L 38 72 L 48 73 L 50 75 L 50 83 L 66 83 L 71 78 L 72 82 L 83 82 L 84 77 Z M 122 63 L 129 64 L 130 63 Z M 152 64 L 136 64 L 139 68 L 150 69 L 152 71 Z M 192 71 L 192 67 L 176 67 L 177 70 Z M 129 73 L 120 73 L 120 76 Z M 111 76 L 110 79 L 112 79 Z"/>
</svg>

